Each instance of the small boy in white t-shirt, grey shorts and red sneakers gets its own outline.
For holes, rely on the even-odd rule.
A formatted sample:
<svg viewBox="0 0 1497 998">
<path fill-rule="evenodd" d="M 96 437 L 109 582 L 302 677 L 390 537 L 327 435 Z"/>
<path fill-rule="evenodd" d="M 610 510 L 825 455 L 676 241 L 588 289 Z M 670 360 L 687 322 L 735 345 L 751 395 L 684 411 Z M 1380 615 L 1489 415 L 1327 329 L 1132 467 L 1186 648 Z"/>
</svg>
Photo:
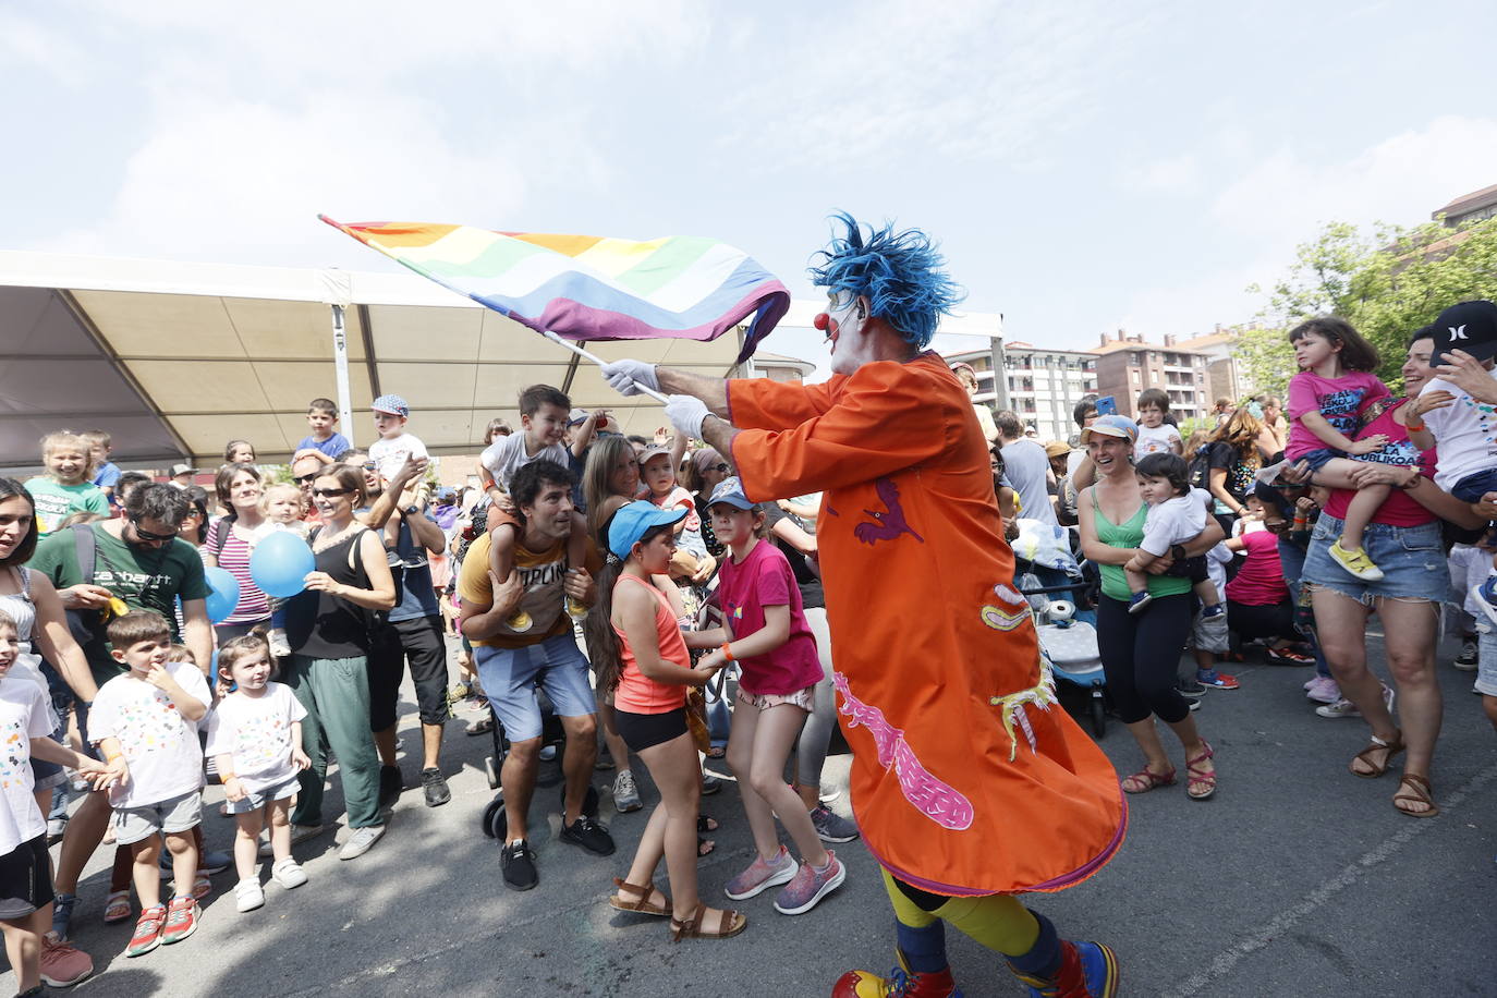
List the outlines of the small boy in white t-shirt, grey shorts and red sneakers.
<svg viewBox="0 0 1497 998">
<path fill-rule="evenodd" d="M 189 661 L 169 661 L 171 627 L 160 613 L 135 610 L 106 628 L 115 661 L 129 672 L 99 690 L 88 711 L 88 739 L 109 766 L 123 763 L 123 783 L 109 792 L 114 839 L 135 857 L 135 892 L 141 920 L 126 956 L 141 956 L 162 943 L 177 943 L 198 928 L 198 844 L 202 820 L 202 747 L 198 723 L 213 694 Z M 165 835 L 172 854 L 177 893 L 160 904 L 157 859 Z"/>
</svg>

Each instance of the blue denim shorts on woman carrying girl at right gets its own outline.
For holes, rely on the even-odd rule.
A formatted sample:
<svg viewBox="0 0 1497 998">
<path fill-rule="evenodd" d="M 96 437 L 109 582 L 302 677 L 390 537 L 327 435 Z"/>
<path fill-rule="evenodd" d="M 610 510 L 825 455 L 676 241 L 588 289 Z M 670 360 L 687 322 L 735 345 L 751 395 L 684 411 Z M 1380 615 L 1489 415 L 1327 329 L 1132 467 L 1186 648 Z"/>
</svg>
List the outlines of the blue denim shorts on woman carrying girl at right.
<svg viewBox="0 0 1497 998">
<path fill-rule="evenodd" d="M 1305 552 L 1305 582 L 1349 596 L 1364 606 L 1373 606 L 1382 597 L 1431 603 L 1445 599 L 1451 573 L 1445 564 L 1437 521 L 1419 527 L 1367 525 L 1362 548 L 1373 564 L 1383 570 L 1383 578 L 1377 582 L 1358 579 L 1331 558 L 1331 542 L 1341 536 L 1343 527 L 1340 519 L 1320 515 L 1310 534 L 1310 551 Z"/>
</svg>

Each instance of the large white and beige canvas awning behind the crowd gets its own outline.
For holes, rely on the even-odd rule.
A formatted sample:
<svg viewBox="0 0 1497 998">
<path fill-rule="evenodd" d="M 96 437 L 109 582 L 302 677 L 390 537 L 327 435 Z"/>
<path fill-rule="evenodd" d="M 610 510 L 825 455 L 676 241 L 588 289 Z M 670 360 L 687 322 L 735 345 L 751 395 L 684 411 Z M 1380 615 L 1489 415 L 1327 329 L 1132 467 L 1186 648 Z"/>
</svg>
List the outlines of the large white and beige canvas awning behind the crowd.
<svg viewBox="0 0 1497 998">
<path fill-rule="evenodd" d="M 352 419 L 340 429 L 358 446 L 373 440 L 370 401 L 388 392 L 406 398 L 409 429 L 436 455 L 475 453 L 494 417 L 518 431 L 516 397 L 534 383 L 609 408 L 624 432 L 666 422 L 591 364 L 415 274 L 0 251 L 0 467 L 36 467 L 55 429 L 106 429 L 121 465 L 214 468 L 235 438 L 262 462 L 284 461 L 307 434 L 307 402 L 338 398 L 329 302 L 344 295 Z M 725 335 L 590 350 L 725 377 L 740 346 Z"/>
</svg>

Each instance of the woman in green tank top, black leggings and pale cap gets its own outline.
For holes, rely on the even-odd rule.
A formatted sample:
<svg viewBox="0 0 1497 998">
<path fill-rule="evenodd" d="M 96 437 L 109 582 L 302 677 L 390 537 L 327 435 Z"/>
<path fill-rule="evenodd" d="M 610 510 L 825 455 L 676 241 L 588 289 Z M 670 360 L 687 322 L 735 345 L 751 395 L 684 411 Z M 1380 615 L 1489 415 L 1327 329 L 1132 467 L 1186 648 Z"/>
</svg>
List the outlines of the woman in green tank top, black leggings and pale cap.
<svg viewBox="0 0 1497 998">
<path fill-rule="evenodd" d="M 1097 604 L 1097 643 L 1108 694 L 1129 732 L 1144 751 L 1144 768 L 1123 781 L 1127 793 L 1144 793 L 1175 783 L 1175 768 L 1159 739 L 1154 717 L 1169 724 L 1186 751 L 1186 793 L 1205 800 L 1216 792 L 1211 745 L 1196 730 L 1190 706 L 1175 688 L 1180 651 L 1190 633 L 1195 612 L 1190 579 L 1157 575 L 1171 566 L 1160 558 L 1150 566 L 1148 593 L 1153 601 L 1141 613 L 1129 613 L 1129 588 L 1123 566 L 1138 554 L 1148 506 L 1133 474 L 1133 441 L 1138 425 L 1126 416 L 1102 416 L 1081 431 L 1081 443 L 1096 465 L 1096 485 L 1076 501 L 1081 518 L 1081 549 L 1102 570 Z M 1222 528 L 1207 518 L 1207 530 L 1186 545 L 1190 555 L 1204 554 L 1222 540 Z"/>
</svg>

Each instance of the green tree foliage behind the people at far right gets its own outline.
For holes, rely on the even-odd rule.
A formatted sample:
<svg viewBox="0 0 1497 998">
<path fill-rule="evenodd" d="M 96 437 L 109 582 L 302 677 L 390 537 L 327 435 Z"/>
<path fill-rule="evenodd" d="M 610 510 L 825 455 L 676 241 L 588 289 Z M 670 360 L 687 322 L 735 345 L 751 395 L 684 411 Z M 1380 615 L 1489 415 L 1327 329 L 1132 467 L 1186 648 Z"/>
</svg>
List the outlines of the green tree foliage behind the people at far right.
<svg viewBox="0 0 1497 998">
<path fill-rule="evenodd" d="M 1268 304 L 1235 353 L 1257 391 L 1281 392 L 1295 374 L 1289 329 L 1311 316 L 1337 314 L 1377 347 L 1377 376 L 1397 392 L 1416 329 L 1457 302 L 1497 299 L 1497 218 L 1460 229 L 1439 221 L 1376 226 L 1370 233 L 1332 223 L 1298 247 L 1271 287 L 1248 290 L 1266 293 Z"/>
</svg>

